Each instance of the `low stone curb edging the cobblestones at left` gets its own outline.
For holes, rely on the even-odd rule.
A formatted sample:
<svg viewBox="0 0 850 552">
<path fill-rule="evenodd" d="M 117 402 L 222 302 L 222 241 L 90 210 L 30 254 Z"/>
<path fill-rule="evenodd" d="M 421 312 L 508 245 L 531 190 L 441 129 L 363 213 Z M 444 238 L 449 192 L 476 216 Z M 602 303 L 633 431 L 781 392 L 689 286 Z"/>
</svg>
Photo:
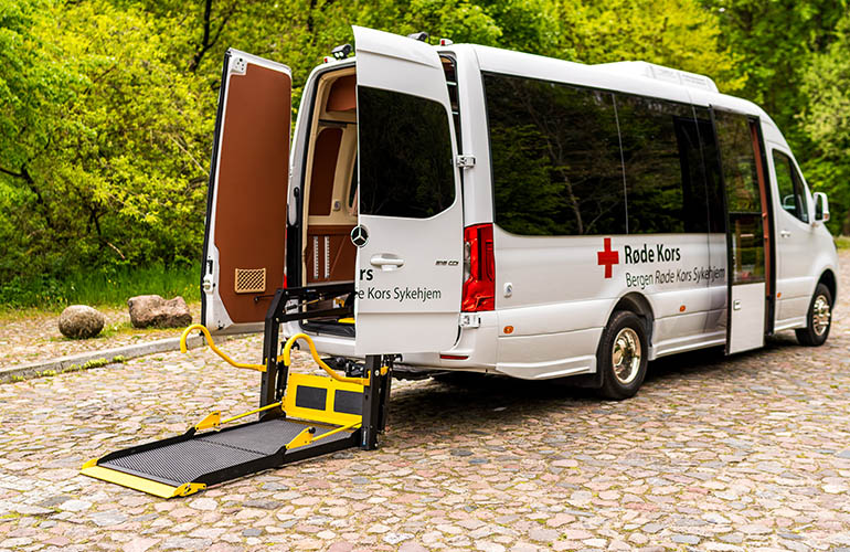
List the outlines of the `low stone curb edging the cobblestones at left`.
<svg viewBox="0 0 850 552">
<path fill-rule="evenodd" d="M 216 336 L 216 342 L 230 341 L 231 339 L 243 338 L 251 333 L 233 333 L 230 336 Z M 185 340 L 188 349 L 203 347 L 206 341 L 202 336 L 189 336 Z M 33 362 L 17 367 L 0 368 L 0 383 L 10 381 L 29 380 L 42 375 L 56 375 L 63 372 L 76 372 L 78 370 L 88 370 L 100 368 L 108 364 L 119 364 L 128 359 L 145 357 L 158 352 L 177 351 L 180 349 L 180 338 L 167 338 L 147 343 L 134 343 L 124 347 L 114 347 L 111 349 L 102 349 L 99 351 L 81 352 L 59 357 L 46 362 Z"/>
</svg>

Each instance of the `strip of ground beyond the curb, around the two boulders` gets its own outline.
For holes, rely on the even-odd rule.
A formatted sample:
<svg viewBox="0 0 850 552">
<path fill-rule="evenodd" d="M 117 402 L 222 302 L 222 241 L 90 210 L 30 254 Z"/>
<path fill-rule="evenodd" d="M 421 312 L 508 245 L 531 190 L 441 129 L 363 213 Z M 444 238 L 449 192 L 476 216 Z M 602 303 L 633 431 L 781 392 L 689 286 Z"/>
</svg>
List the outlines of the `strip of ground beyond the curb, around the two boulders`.
<svg viewBox="0 0 850 552">
<path fill-rule="evenodd" d="M 66 354 L 97 351 L 157 339 L 180 337 L 181 329 L 138 330 L 130 327 L 127 307 L 98 307 L 106 317 L 100 336 L 68 339 L 59 331 L 59 312 L 24 310 L 0 315 L 0 368 L 51 360 Z M 189 305 L 192 320 L 201 319 L 201 304 Z"/>
</svg>

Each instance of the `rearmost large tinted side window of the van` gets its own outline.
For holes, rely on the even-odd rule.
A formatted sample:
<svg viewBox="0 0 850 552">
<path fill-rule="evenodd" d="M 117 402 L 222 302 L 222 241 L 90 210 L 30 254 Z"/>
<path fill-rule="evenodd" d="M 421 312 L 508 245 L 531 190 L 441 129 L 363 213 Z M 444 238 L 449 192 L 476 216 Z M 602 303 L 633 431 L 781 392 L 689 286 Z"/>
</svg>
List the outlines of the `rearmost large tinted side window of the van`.
<svg viewBox="0 0 850 552">
<path fill-rule="evenodd" d="M 485 74 L 496 223 L 524 235 L 625 234 L 610 93 Z"/>
</svg>

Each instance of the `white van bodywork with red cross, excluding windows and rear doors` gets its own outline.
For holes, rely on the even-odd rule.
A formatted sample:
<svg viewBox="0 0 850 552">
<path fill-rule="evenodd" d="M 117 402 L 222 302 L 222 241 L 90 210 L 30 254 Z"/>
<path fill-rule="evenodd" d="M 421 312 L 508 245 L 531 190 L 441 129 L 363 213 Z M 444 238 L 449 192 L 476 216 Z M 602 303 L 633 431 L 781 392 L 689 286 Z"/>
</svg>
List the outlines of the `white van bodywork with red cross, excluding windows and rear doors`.
<svg viewBox="0 0 850 552">
<path fill-rule="evenodd" d="M 745 99 L 719 94 L 704 83 L 684 86 L 680 77 L 677 77 L 677 84 L 672 79 L 648 76 L 645 67 L 639 65 L 624 71 L 618 64 L 583 65 L 488 46 L 453 45 L 438 51 L 457 61 L 460 153 L 476 159 L 475 168 L 463 171 L 466 226 L 493 221 L 493 182 L 481 72 L 658 97 L 758 117 L 767 158 L 771 159 L 771 150 L 776 147 L 793 159 L 786 140 L 762 108 Z M 309 97 L 318 71 L 350 62 L 333 62 L 314 72 L 305 87 L 305 97 Z M 294 163 L 300 157 L 302 152 L 300 156 L 294 153 Z M 779 232 L 783 224 L 795 221 L 783 220 L 787 213 L 778 203 L 773 161 L 769 160 L 767 166 L 776 256 L 774 329 L 778 331 L 805 327 L 805 311 L 817 282 L 825 270 L 837 273 L 838 263 L 831 236 L 822 223 L 799 223 L 796 230 L 801 234 L 805 234 L 804 230 L 808 232 L 806 251 L 785 250 Z M 297 169 L 293 172 L 297 173 Z M 810 194 L 809 205 L 811 209 Z M 814 212 L 810 220 L 814 220 Z M 618 262 L 610 266 L 609 277 L 598 257 L 599 253 L 608 251 L 606 240 L 610 240 L 609 250 L 619 255 Z M 493 244 L 496 309 L 476 312 L 479 323 L 459 328 L 453 348 L 433 353 L 406 353 L 402 364 L 501 373 L 521 379 L 593 373 L 603 330 L 624 298 L 642 301 L 647 307 L 650 360 L 726 343 L 725 234 L 538 237 L 513 235 L 493 225 Z M 644 247 L 656 252 L 659 247 L 674 248 L 679 258 L 660 263 L 627 262 L 625 246 L 633 252 Z M 764 285 L 761 291 L 750 289 L 746 297 L 740 299 L 757 302 L 759 293 L 763 299 Z M 748 311 L 748 316 L 757 317 L 758 309 Z M 746 325 L 746 321 L 735 321 L 735 325 L 742 323 Z M 298 330 L 297 325 L 290 323 L 287 333 Z M 318 335 L 315 340 L 323 352 L 354 357 L 351 338 Z M 737 342 L 733 343 L 733 348 L 737 346 Z"/>
</svg>

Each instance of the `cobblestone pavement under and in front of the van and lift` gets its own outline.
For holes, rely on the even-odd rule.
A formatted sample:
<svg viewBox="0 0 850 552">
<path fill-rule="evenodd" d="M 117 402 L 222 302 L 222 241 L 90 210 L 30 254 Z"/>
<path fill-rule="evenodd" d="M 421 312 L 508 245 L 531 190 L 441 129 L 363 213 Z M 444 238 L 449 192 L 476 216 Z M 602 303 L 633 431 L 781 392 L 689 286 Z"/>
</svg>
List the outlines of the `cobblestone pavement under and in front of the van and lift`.
<svg viewBox="0 0 850 552">
<path fill-rule="evenodd" d="M 199 349 L 0 385 L 0 550 L 850 550 L 842 300 L 825 347 L 670 358 L 619 403 L 394 382 L 381 449 L 169 501 L 77 469 L 253 407 L 258 374 Z M 259 346 L 224 349 L 257 361 Z"/>
</svg>

